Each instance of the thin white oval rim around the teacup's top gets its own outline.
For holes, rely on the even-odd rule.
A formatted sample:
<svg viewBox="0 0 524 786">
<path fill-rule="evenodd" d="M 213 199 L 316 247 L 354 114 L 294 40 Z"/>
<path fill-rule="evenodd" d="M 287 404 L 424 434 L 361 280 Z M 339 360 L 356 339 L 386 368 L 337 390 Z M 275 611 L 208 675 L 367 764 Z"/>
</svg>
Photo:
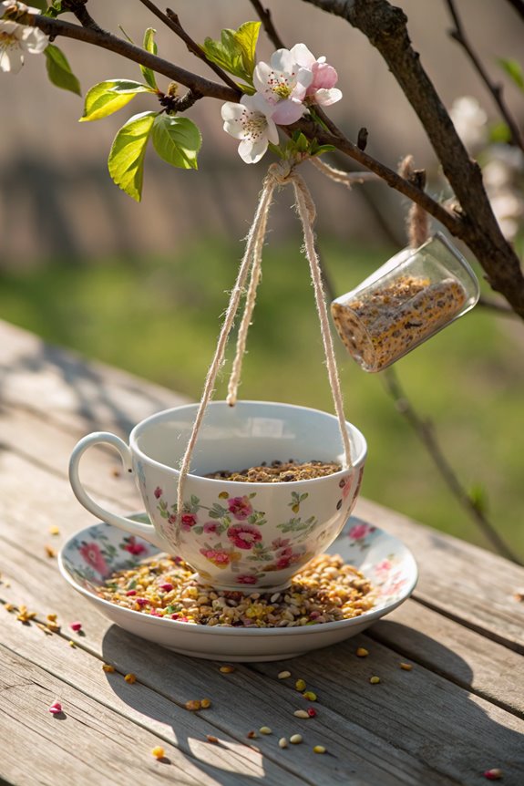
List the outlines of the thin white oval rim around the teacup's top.
<svg viewBox="0 0 524 786">
<path fill-rule="evenodd" d="M 284 401 L 263 401 L 260 399 L 243 398 L 241 399 L 241 401 L 238 401 L 235 404 L 235 407 L 242 407 L 244 405 L 257 405 L 257 404 L 263 405 L 264 407 L 284 407 L 288 409 L 300 409 L 306 412 L 314 412 L 316 414 L 323 415 L 324 417 L 332 420 L 337 420 L 336 415 L 334 415 L 331 412 L 326 412 L 324 411 L 324 409 L 304 407 L 303 405 L 289 404 Z M 208 404 L 208 407 L 214 408 L 218 406 L 221 406 L 223 409 L 226 410 L 231 409 L 231 405 L 229 405 L 228 402 L 223 399 L 210 401 Z M 145 453 L 143 450 L 139 448 L 139 443 L 138 443 L 139 433 L 141 432 L 142 429 L 146 429 L 148 425 L 154 422 L 155 420 L 169 419 L 168 416 L 173 412 L 180 412 L 180 410 L 183 409 L 195 409 L 196 411 L 198 411 L 198 408 L 199 408 L 198 402 L 182 404 L 179 407 L 170 407 L 169 409 L 161 409 L 159 410 L 159 412 L 155 412 L 152 415 L 149 415 L 148 418 L 144 418 L 140 420 L 139 423 L 136 424 L 136 426 L 131 430 L 129 434 L 129 448 L 131 449 L 132 453 L 136 455 L 139 458 L 139 460 L 145 461 L 147 464 L 149 464 L 149 466 L 156 467 L 158 469 L 161 469 L 162 471 L 170 471 L 176 477 L 178 477 L 180 475 L 180 469 L 178 469 L 177 467 L 172 467 L 169 464 L 163 464 L 161 461 L 151 458 L 151 456 L 149 456 L 147 453 Z M 329 479 L 336 479 L 336 478 L 341 479 L 346 477 L 354 470 L 358 470 L 361 467 L 363 467 L 367 457 L 367 440 L 365 439 L 365 435 L 350 420 L 346 419 L 345 424 L 347 427 L 349 427 L 350 433 L 353 432 L 358 436 L 362 444 L 362 449 L 359 451 L 358 455 L 354 457 L 351 466 L 345 468 L 343 467 L 339 471 L 332 472 L 331 474 L 324 475 L 320 478 L 308 478 L 302 481 L 274 481 L 271 484 L 264 483 L 262 481 L 249 481 L 250 488 L 252 486 L 264 487 L 264 488 L 267 488 L 268 486 L 271 487 L 286 486 L 293 489 L 297 485 L 300 485 L 303 488 L 304 483 L 319 483 L 319 482 L 325 482 L 326 480 Z M 241 487 L 243 489 L 245 489 L 246 487 L 245 481 L 229 481 L 229 480 L 224 480 L 223 478 L 206 478 L 201 475 L 193 474 L 191 472 L 189 473 L 188 478 L 198 479 L 199 481 L 207 481 L 212 483 L 221 483 L 222 485 L 226 484 L 228 487 Z"/>
</svg>

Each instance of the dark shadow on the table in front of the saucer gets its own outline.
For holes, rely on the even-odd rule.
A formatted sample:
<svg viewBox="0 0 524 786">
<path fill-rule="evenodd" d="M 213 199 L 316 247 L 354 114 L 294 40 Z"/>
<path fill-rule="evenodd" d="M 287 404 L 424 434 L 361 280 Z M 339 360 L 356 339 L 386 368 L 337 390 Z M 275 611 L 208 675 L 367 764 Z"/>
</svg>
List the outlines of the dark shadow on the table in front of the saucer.
<svg viewBox="0 0 524 786">
<path fill-rule="evenodd" d="M 415 665 L 412 671 L 404 671 L 398 667 L 401 658 L 395 651 L 365 634 L 293 660 L 239 664 L 236 673 L 223 681 L 222 677 L 226 676 L 218 673 L 217 662 L 177 655 L 117 626 L 108 629 L 103 653 L 108 663 L 120 671 L 135 672 L 140 682 L 155 691 L 146 696 L 136 686 L 129 686 L 121 675 L 108 675 L 118 697 L 141 714 L 170 724 L 177 748 L 188 756 L 192 765 L 200 766 L 202 775 L 212 772 L 215 780 L 228 786 L 234 783 L 249 786 L 262 780 L 264 784 L 280 783 L 283 768 L 290 767 L 284 760 L 282 767 L 277 763 L 286 751 L 278 750 L 274 739 L 280 736 L 275 714 L 282 719 L 283 714 L 291 712 L 290 688 L 275 679 L 282 668 L 303 677 L 318 693 L 319 715 L 315 723 L 318 723 L 319 741 L 330 740 L 327 744 L 335 756 L 339 752 L 336 759 L 331 757 L 334 761 L 328 761 L 327 757 L 318 757 L 318 763 L 315 760 L 315 772 L 321 780 L 334 777 L 332 768 L 335 767 L 334 782 L 342 782 L 341 776 L 346 775 L 347 782 L 357 777 L 361 779 L 359 783 L 374 786 L 378 782 L 400 786 L 416 782 L 417 778 L 425 786 L 442 786 L 449 779 L 473 786 L 484 770 L 498 767 L 504 770 L 506 786 L 521 786 L 524 737 L 510 728 L 519 720 L 509 714 L 504 716 L 503 710 L 492 705 L 492 715 L 497 720 L 489 717 L 486 706 L 481 706 L 482 700 L 465 689 L 471 684 L 471 668 L 443 643 L 396 622 L 381 621 L 380 626 L 389 627 L 389 636 L 392 629 L 399 636 L 401 629 L 408 629 L 416 644 L 414 653 L 427 651 L 428 662 L 442 664 L 442 669 L 428 670 Z M 355 657 L 357 646 L 366 646 L 371 656 Z M 381 675 L 381 684 L 372 686 L 369 677 L 376 672 Z M 265 676 L 263 684 L 262 676 Z M 515 678 L 517 688 L 517 675 Z M 279 695 L 283 701 L 280 711 Z M 183 707 L 189 698 L 204 696 L 213 700 L 213 711 L 200 712 L 196 717 Z M 183 713 L 192 717 L 185 718 Z M 261 751 L 260 761 L 252 765 L 256 770 L 260 763 L 260 774 L 257 771 L 253 774 L 241 765 L 241 750 L 246 750 L 245 745 L 249 744 L 246 731 L 260 725 L 257 719 L 262 717 L 275 724 L 274 760 Z M 507 720 L 509 725 L 498 719 Z M 224 752 L 226 746 L 233 747 L 235 761 L 231 753 L 229 758 L 233 767 L 236 762 L 238 770 L 221 769 L 221 762 L 217 766 L 211 757 L 205 758 L 205 751 L 210 748 L 202 749 L 195 743 L 209 746 L 206 734 L 223 739 Z M 257 747 L 257 741 L 261 740 L 253 741 Z M 391 770 L 389 763 L 383 764 L 389 760 L 394 762 Z M 381 770 L 383 766 L 385 769 Z M 290 769 L 293 771 L 293 765 Z M 296 772 L 300 782 L 300 770 Z M 394 772 L 398 775 L 393 775 Z M 409 781 L 404 780 L 407 773 Z M 288 775 L 288 782 L 293 783 L 296 776 L 290 770 Z M 310 775 L 315 781 L 315 773 Z"/>
</svg>

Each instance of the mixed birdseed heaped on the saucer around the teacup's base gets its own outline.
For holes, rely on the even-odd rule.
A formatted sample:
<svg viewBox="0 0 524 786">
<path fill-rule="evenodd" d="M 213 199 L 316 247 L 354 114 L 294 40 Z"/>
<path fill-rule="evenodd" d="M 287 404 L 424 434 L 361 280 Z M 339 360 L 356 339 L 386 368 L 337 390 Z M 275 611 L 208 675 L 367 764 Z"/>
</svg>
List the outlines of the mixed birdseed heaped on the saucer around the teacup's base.
<svg viewBox="0 0 524 786">
<path fill-rule="evenodd" d="M 338 555 L 315 557 L 282 592 L 215 590 L 194 576 L 180 558 L 160 554 L 111 574 L 98 596 L 142 614 L 224 627 L 321 625 L 362 615 L 375 603 L 370 581 Z"/>
</svg>

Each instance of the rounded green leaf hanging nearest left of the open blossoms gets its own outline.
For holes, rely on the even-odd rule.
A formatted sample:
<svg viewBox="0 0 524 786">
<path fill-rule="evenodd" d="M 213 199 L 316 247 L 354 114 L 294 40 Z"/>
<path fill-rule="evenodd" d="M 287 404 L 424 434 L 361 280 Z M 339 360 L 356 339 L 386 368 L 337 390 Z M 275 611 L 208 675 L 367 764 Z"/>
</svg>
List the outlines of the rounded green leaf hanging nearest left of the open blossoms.
<svg viewBox="0 0 524 786">
<path fill-rule="evenodd" d="M 161 159 L 183 170 L 198 169 L 197 153 L 202 138 L 198 126 L 189 118 L 157 115 L 152 139 Z"/>
</svg>

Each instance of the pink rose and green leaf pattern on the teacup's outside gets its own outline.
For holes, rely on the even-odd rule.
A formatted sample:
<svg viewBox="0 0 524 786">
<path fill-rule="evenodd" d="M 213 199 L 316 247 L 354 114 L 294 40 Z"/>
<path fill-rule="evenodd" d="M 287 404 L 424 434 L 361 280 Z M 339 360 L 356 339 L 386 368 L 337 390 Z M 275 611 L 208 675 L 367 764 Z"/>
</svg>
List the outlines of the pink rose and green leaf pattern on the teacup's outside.
<svg viewBox="0 0 524 786">
<path fill-rule="evenodd" d="M 159 487 L 154 495 L 160 516 L 173 526 L 177 521 L 176 504 L 167 502 Z M 200 554 L 211 564 L 221 570 L 228 568 L 236 584 L 256 585 L 265 574 L 303 564 L 313 556 L 308 553 L 306 543 L 318 520 L 315 516 L 304 519 L 300 515 L 301 504 L 308 496 L 307 492 L 292 491 L 289 507 L 294 515 L 277 525 L 283 535 L 293 533 L 293 545 L 285 537 L 264 543 L 266 520 L 264 512 L 254 507 L 256 491 L 241 497 L 230 497 L 227 491 L 221 491 L 211 507 L 191 496 L 181 516 L 180 543 L 185 542 L 184 533 L 190 532 L 191 539 L 197 538 Z M 201 570 L 200 575 L 207 576 Z"/>
</svg>

